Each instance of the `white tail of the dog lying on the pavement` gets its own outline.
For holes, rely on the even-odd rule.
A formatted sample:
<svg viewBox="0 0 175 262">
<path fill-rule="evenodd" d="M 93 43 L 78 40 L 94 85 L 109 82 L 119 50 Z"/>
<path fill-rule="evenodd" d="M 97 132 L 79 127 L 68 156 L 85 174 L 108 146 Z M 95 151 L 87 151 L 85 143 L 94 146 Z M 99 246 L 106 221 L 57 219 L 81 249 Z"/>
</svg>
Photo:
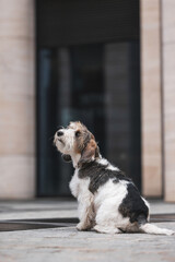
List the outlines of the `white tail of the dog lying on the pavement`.
<svg viewBox="0 0 175 262">
<path fill-rule="evenodd" d="M 148 223 L 148 221 L 145 219 L 145 217 L 143 215 L 140 215 L 138 217 L 138 224 L 139 224 L 139 229 L 147 234 L 167 235 L 167 236 L 172 236 L 175 234 L 175 231 L 173 231 L 173 230 L 170 230 L 166 228 L 160 228 L 155 225 Z"/>
</svg>

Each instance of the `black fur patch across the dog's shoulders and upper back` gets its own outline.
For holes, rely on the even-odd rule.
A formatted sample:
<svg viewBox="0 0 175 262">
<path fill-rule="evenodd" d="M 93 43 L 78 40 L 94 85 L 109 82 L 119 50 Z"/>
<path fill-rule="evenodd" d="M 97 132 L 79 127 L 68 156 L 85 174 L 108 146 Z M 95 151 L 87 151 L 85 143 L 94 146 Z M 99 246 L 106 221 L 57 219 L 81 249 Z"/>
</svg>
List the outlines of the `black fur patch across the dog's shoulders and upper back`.
<svg viewBox="0 0 175 262">
<path fill-rule="evenodd" d="M 113 179 L 114 183 L 119 180 L 131 181 L 128 177 L 124 175 L 122 171 L 106 169 L 107 165 L 102 165 L 97 162 L 85 163 L 79 170 L 79 178 L 90 177 L 89 190 L 95 193 L 97 189 L 105 184 L 109 179 Z"/>
</svg>

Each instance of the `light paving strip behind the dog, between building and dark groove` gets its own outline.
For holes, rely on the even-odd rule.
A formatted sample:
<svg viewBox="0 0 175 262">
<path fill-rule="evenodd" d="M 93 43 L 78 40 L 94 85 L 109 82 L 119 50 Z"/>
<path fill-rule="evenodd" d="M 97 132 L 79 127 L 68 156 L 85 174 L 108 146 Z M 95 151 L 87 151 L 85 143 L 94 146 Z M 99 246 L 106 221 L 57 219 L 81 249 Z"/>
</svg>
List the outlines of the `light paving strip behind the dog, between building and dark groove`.
<svg viewBox="0 0 175 262">
<path fill-rule="evenodd" d="M 149 201 L 151 214 L 175 214 L 175 203 Z M 77 217 L 74 200 L 0 201 L 1 219 Z"/>
</svg>

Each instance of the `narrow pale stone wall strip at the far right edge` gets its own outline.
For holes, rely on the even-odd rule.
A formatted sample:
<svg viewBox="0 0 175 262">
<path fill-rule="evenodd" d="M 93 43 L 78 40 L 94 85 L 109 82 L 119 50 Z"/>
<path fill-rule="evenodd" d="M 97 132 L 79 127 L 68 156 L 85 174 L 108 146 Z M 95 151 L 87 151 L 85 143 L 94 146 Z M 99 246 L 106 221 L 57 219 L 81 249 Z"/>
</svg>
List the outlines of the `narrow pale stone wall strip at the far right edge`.
<svg viewBox="0 0 175 262">
<path fill-rule="evenodd" d="M 164 196 L 175 201 L 175 1 L 162 0 Z"/>
</svg>

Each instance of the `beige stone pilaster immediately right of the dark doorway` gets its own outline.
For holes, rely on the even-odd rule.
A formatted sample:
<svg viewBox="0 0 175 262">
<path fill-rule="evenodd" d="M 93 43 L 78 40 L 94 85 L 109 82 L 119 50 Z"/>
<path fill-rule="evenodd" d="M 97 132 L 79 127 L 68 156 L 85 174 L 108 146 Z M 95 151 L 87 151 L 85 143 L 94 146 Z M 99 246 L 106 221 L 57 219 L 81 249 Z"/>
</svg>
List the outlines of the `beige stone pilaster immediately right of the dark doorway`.
<svg viewBox="0 0 175 262">
<path fill-rule="evenodd" d="M 162 195 L 160 1 L 141 0 L 142 192 Z"/>
</svg>

